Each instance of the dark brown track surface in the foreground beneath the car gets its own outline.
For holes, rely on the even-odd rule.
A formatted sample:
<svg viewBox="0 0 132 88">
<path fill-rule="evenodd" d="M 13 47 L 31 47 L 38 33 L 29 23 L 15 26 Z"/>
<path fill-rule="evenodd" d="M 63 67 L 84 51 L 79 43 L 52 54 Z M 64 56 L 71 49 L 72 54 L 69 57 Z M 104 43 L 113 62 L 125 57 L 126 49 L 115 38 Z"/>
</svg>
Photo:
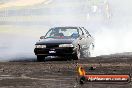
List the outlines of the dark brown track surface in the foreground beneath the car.
<svg viewBox="0 0 132 88">
<path fill-rule="evenodd" d="M 130 83 L 78 83 L 77 66 L 87 74 L 132 74 L 131 56 L 102 56 L 77 61 L 0 62 L 0 88 L 132 88 Z M 95 66 L 95 70 L 89 70 Z"/>
</svg>

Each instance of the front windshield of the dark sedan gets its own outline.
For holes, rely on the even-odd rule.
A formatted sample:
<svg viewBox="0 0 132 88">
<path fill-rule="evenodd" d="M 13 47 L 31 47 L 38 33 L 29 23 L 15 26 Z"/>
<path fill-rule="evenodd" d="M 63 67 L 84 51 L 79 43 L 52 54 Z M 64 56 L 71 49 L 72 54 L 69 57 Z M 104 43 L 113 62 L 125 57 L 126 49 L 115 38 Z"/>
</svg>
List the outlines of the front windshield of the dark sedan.
<svg viewBox="0 0 132 88">
<path fill-rule="evenodd" d="M 45 38 L 78 38 L 79 37 L 79 29 L 77 28 L 66 28 L 66 27 L 58 27 L 52 28 L 48 31 Z"/>
</svg>

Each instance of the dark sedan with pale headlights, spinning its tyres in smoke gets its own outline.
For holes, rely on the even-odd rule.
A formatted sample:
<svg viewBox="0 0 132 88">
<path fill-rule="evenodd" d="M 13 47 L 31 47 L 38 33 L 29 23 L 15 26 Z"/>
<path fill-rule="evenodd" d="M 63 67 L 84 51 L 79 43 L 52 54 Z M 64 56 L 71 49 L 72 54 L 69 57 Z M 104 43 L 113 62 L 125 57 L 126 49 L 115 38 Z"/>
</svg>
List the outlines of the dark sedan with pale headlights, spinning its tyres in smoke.
<svg viewBox="0 0 132 88">
<path fill-rule="evenodd" d="M 47 56 L 67 59 L 87 58 L 94 48 L 94 39 L 84 27 L 54 27 L 36 42 L 34 53 L 37 61 Z"/>
</svg>

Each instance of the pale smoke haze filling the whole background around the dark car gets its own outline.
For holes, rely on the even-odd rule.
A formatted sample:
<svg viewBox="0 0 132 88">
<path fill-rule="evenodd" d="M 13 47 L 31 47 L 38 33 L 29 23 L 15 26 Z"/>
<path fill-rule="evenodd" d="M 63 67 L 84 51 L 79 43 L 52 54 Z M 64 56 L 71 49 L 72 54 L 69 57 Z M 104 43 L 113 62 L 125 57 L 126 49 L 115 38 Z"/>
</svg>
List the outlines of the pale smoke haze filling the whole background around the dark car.
<svg viewBox="0 0 132 88">
<path fill-rule="evenodd" d="M 132 52 L 131 0 L 33 0 L 29 6 L 18 0 L 20 7 L 12 1 L 0 5 L 0 60 L 36 58 L 35 42 L 54 26 L 88 29 L 93 56 Z"/>
</svg>

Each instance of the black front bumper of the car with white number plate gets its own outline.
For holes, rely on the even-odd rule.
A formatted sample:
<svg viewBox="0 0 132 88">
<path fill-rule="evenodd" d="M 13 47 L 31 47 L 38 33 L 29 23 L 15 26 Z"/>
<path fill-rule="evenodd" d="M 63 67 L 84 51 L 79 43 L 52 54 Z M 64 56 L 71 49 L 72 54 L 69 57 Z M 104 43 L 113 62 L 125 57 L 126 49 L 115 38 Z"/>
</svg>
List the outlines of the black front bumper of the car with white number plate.
<svg viewBox="0 0 132 88">
<path fill-rule="evenodd" d="M 44 56 L 67 56 L 76 53 L 74 47 L 59 47 L 59 48 L 35 48 L 35 55 Z"/>
</svg>

